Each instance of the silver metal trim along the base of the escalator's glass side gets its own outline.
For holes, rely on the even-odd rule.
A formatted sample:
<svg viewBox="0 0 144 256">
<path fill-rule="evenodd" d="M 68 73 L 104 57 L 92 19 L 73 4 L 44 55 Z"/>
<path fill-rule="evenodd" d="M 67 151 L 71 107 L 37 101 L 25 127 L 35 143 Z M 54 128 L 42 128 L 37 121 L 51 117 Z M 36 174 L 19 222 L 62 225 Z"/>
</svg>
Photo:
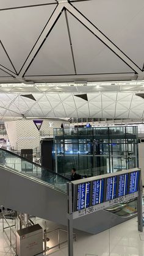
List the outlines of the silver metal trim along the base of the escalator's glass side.
<svg viewBox="0 0 144 256">
<path fill-rule="evenodd" d="M 48 182 L 43 181 L 43 180 L 40 180 L 40 179 L 38 179 L 38 178 L 36 178 L 36 177 L 33 177 L 33 176 L 30 176 L 30 175 L 28 175 L 28 174 L 23 174 L 22 172 L 18 172 L 18 171 L 16 171 L 16 170 L 10 169 L 10 167 L 8 167 L 8 166 L 2 166 L 2 165 L 0 164 L 0 168 L 6 169 L 6 170 L 8 170 L 9 172 L 13 172 L 14 174 L 19 175 L 19 176 L 21 176 L 21 177 L 25 177 L 25 178 L 27 178 L 28 180 L 32 180 L 32 181 L 35 181 L 35 182 L 37 182 L 37 183 L 41 183 L 42 185 L 48 186 L 48 187 L 50 187 L 50 188 L 52 188 L 52 189 L 54 189 L 54 190 L 56 190 L 56 191 L 62 192 L 63 194 L 67 194 L 67 191 L 64 191 L 63 189 L 57 188 L 56 186 L 52 185 L 51 183 L 48 183 Z"/>
</svg>

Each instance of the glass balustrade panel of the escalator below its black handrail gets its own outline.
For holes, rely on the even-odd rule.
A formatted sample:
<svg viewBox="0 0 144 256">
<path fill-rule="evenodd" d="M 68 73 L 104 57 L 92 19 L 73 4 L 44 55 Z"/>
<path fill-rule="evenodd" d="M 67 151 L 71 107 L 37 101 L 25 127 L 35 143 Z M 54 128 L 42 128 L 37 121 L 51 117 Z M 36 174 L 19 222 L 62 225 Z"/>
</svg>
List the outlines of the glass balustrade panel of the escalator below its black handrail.
<svg viewBox="0 0 144 256">
<path fill-rule="evenodd" d="M 0 148 L 0 166 L 67 192 L 68 178 L 3 148 Z"/>
</svg>

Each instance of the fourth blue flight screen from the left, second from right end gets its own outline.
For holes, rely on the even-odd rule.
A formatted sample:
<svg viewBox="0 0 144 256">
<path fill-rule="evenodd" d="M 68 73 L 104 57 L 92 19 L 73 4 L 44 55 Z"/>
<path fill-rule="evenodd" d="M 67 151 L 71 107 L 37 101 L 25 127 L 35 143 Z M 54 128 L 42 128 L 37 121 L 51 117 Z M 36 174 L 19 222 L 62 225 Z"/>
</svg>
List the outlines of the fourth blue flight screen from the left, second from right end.
<svg viewBox="0 0 144 256">
<path fill-rule="evenodd" d="M 128 174 L 121 174 L 119 175 L 118 181 L 118 197 L 122 197 L 128 194 Z"/>
</svg>

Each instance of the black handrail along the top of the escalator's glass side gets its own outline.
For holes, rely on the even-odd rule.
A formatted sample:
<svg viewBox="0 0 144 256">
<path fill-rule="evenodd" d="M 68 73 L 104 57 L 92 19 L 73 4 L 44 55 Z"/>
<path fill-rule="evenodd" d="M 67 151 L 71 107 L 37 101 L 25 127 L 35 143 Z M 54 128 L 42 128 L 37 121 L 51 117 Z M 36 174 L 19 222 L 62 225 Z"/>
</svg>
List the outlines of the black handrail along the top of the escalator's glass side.
<svg viewBox="0 0 144 256">
<path fill-rule="evenodd" d="M 59 177 L 62 177 L 62 178 L 65 178 L 65 180 L 67 180 L 67 181 L 71 181 L 69 178 L 67 178 L 67 177 L 65 177 L 65 176 L 63 176 L 63 175 L 61 175 L 61 174 L 58 174 L 57 172 L 54 172 L 53 170 L 50 170 L 50 169 L 48 169 L 47 167 L 40 166 L 40 164 L 34 163 L 34 162 L 32 162 L 31 160 L 24 158 L 23 156 L 19 156 L 19 155 L 17 155 L 16 153 L 13 153 L 13 152 L 10 151 L 10 150 L 6 150 L 6 149 L 4 149 L 4 148 L 0 148 L 0 152 L 1 152 L 1 150 L 2 150 L 3 152 L 9 153 L 9 154 L 11 154 L 11 155 L 13 155 L 13 156 L 16 156 L 16 157 L 18 157 L 18 158 L 20 158 L 20 159 L 23 159 L 24 161 L 27 161 L 27 162 L 29 162 L 29 163 L 31 163 L 31 164 L 34 164 L 35 166 L 41 167 L 41 169 L 43 169 L 43 170 L 48 170 L 48 171 L 51 172 L 52 174 L 55 174 L 55 175 L 57 175 L 57 176 L 59 176 Z"/>
</svg>

